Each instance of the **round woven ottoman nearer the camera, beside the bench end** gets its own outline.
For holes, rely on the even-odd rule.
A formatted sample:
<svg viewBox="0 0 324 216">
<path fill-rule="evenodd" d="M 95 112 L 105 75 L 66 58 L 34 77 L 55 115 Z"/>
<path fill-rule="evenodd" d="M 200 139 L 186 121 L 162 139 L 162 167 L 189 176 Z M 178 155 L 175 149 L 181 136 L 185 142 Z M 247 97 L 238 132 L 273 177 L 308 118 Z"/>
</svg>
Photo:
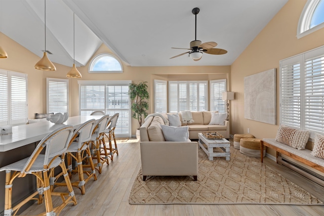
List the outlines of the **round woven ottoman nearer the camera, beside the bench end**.
<svg viewBox="0 0 324 216">
<path fill-rule="evenodd" d="M 260 146 L 260 139 L 257 138 L 242 138 L 239 141 L 239 152 L 245 154 L 250 157 L 261 157 L 261 146 Z M 263 151 L 263 155 L 265 156 L 265 148 Z"/>
</svg>

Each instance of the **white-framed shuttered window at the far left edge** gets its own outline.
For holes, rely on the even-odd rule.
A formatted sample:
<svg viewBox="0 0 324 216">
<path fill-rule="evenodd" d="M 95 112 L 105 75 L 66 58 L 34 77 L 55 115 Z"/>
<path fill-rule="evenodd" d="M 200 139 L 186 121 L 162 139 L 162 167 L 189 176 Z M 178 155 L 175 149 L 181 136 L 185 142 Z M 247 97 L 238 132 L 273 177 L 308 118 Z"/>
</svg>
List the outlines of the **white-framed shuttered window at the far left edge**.
<svg viewBox="0 0 324 216">
<path fill-rule="evenodd" d="M 0 69 L 0 73 L 7 76 L 7 118 L 4 121 L 1 121 L 0 125 L 15 125 L 15 124 L 27 123 L 28 121 L 28 74 L 4 70 L 4 69 Z M 25 82 L 25 96 L 24 96 L 25 101 L 24 101 L 24 106 L 22 107 L 22 109 L 24 109 L 23 112 L 25 113 L 25 115 L 15 120 L 13 119 L 14 116 L 12 115 L 12 108 L 13 108 L 12 85 L 15 84 L 12 83 L 13 76 L 23 78 Z M 17 116 L 20 116 L 21 114 L 22 113 L 19 113 Z"/>
</svg>

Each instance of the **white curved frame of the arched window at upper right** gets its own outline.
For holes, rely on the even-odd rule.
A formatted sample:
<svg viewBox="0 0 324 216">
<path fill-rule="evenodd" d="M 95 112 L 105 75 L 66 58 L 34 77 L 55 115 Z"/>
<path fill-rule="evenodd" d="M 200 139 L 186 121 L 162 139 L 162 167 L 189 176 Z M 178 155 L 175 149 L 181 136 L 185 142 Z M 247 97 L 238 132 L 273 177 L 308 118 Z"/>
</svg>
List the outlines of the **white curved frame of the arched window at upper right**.
<svg viewBox="0 0 324 216">
<path fill-rule="evenodd" d="M 304 6 L 304 9 L 299 17 L 297 26 L 297 38 L 300 39 L 308 34 L 311 34 L 321 28 L 324 28 L 324 23 L 318 24 L 310 28 L 310 21 L 313 13 L 320 1 L 324 0 L 308 0 Z"/>
</svg>

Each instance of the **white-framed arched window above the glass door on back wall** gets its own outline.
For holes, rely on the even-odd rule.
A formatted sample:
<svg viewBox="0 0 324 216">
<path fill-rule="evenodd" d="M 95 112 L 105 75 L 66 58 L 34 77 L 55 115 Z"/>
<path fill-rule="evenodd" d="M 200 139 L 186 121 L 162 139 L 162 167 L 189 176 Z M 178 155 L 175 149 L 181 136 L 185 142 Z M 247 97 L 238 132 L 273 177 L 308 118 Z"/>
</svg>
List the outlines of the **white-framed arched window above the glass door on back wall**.
<svg viewBox="0 0 324 216">
<path fill-rule="evenodd" d="M 123 66 L 113 55 L 102 53 L 92 59 L 89 73 L 123 73 Z"/>
</svg>

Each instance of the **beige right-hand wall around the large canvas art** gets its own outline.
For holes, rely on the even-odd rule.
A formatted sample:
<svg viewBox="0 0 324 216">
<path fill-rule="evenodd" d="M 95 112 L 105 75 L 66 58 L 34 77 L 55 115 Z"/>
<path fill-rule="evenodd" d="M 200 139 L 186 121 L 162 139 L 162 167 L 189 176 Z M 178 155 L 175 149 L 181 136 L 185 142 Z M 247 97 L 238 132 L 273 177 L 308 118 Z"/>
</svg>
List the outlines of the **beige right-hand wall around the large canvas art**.
<svg viewBox="0 0 324 216">
<path fill-rule="evenodd" d="M 324 29 L 297 39 L 297 25 L 306 0 L 290 0 L 266 25 L 231 65 L 232 134 L 250 133 L 257 138 L 274 138 L 279 125 L 279 61 L 324 45 Z M 244 77 L 271 68 L 277 70 L 277 125 L 244 117 Z"/>
</svg>

